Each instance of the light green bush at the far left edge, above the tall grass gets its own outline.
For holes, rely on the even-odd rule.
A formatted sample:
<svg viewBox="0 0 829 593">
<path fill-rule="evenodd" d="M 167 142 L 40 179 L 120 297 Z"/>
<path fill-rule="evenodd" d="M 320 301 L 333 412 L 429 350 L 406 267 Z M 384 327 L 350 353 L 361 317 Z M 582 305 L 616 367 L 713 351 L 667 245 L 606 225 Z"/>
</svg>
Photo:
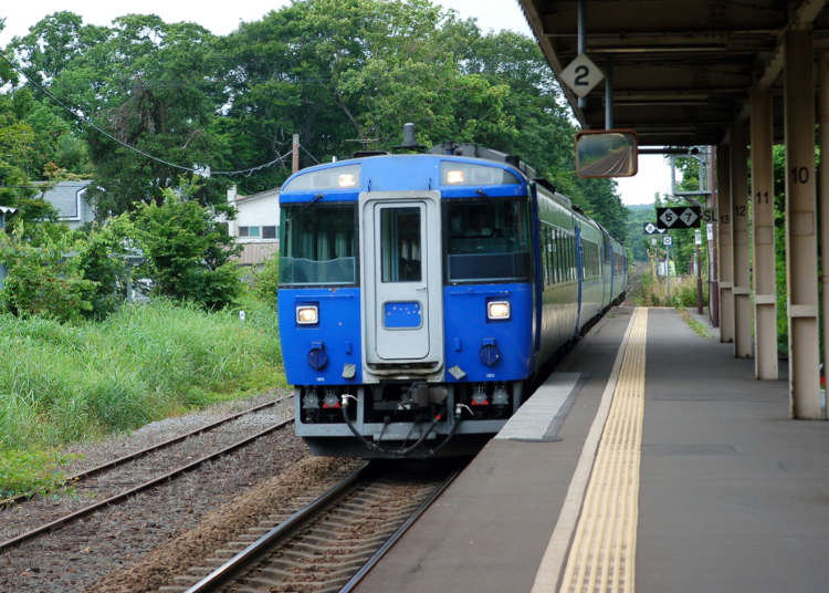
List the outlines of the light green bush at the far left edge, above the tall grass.
<svg viewBox="0 0 829 593">
<path fill-rule="evenodd" d="M 0 260 L 9 274 L 0 290 L 0 308 L 62 322 L 78 321 L 92 311 L 88 298 L 95 283 L 83 278 L 77 259 L 65 257 L 67 251 L 67 243 L 46 235 L 39 247 L 24 240 L 22 222 L 11 236 L 0 233 Z"/>
</svg>

